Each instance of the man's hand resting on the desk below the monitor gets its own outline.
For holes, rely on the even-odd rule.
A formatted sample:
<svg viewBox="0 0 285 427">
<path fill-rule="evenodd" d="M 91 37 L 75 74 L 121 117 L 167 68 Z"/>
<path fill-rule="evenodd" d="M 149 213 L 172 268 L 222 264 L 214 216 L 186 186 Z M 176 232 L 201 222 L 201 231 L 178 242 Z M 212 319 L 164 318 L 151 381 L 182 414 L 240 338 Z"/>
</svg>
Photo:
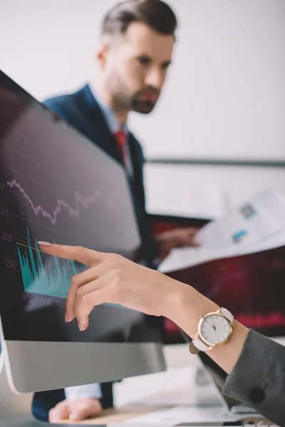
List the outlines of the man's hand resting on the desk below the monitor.
<svg viewBox="0 0 285 427">
<path fill-rule="evenodd" d="M 103 411 L 98 399 L 76 399 L 59 402 L 48 413 L 50 423 L 58 423 L 63 420 L 82 421 L 92 416 L 98 416 Z"/>
</svg>

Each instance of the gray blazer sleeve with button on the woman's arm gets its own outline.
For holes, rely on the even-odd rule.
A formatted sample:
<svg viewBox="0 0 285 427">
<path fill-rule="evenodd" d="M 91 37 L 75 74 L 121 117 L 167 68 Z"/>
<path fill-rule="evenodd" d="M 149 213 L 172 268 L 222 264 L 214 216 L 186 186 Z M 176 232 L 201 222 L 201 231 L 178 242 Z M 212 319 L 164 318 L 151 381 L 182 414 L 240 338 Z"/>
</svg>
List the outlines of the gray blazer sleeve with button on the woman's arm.
<svg viewBox="0 0 285 427">
<path fill-rule="evenodd" d="M 285 347 L 250 330 L 223 393 L 285 426 Z"/>
</svg>

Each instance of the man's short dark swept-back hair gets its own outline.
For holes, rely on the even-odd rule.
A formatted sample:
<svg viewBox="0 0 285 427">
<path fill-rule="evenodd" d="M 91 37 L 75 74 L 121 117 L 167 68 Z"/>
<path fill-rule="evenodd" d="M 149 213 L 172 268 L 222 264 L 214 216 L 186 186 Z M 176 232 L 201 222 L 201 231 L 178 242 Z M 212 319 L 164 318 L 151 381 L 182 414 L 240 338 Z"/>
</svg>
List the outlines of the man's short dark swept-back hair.
<svg viewBox="0 0 285 427">
<path fill-rule="evenodd" d="M 157 33 L 175 36 L 177 18 L 162 0 L 126 0 L 116 4 L 103 21 L 103 34 L 125 33 L 132 22 L 142 22 Z"/>
</svg>

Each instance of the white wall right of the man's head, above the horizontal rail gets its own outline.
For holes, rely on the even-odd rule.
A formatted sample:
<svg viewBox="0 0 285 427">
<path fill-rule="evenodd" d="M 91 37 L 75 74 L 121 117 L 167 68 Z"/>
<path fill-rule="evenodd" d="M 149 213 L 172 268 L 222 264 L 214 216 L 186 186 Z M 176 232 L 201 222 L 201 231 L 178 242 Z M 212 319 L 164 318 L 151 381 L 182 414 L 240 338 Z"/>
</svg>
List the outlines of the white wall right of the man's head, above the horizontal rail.
<svg viewBox="0 0 285 427">
<path fill-rule="evenodd" d="M 285 1 L 172 3 L 181 33 L 163 103 L 134 120 L 147 152 L 285 159 Z"/>
</svg>

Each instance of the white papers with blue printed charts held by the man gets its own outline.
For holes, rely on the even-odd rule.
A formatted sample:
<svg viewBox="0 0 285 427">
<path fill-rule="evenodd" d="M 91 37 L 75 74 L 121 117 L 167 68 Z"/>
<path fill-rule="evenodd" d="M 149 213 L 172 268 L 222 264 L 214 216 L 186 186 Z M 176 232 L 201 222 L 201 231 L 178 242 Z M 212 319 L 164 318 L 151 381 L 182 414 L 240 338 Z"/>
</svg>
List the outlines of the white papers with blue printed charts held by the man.
<svg viewBox="0 0 285 427">
<path fill-rule="evenodd" d="M 254 253 L 285 245 L 285 197 L 265 190 L 197 233 L 199 248 L 177 248 L 160 264 L 162 273 L 209 260 Z"/>
</svg>

